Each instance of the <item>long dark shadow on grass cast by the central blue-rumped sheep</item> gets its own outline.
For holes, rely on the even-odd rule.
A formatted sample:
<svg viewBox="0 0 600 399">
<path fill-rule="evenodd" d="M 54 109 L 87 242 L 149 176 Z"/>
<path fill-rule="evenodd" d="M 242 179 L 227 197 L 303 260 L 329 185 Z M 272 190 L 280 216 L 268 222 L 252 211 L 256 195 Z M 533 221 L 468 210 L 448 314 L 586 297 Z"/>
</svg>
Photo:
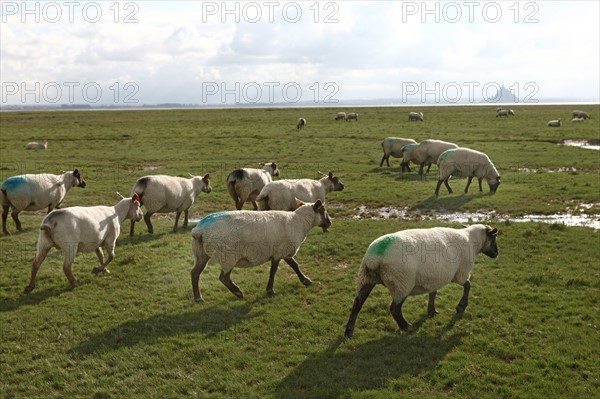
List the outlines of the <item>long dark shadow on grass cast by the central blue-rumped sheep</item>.
<svg viewBox="0 0 600 399">
<path fill-rule="evenodd" d="M 227 307 L 198 305 L 194 306 L 194 310 L 181 314 L 156 315 L 112 327 L 81 342 L 72 348 L 71 352 L 91 355 L 99 351 L 130 347 L 182 334 L 204 334 L 211 337 L 249 317 L 260 316 L 260 313 L 249 316 L 251 309 L 250 304 Z"/>
</svg>

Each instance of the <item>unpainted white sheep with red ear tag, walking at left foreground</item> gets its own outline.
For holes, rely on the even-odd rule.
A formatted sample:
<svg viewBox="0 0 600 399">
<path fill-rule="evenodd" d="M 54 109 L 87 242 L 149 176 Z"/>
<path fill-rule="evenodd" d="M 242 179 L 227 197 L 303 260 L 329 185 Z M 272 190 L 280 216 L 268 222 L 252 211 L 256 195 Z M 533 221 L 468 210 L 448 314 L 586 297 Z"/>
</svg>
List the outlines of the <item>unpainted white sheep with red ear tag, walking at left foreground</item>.
<svg viewBox="0 0 600 399">
<path fill-rule="evenodd" d="M 123 198 L 115 206 L 73 206 L 50 212 L 40 226 L 37 252 L 31 266 L 31 280 L 25 288 L 28 294 L 35 288 L 35 279 L 42 262 L 52 247 L 64 254 L 63 271 L 71 286 L 78 285 L 71 266 L 79 252 L 95 251 L 100 265 L 92 273 L 110 273 L 107 266 L 115 257 L 115 244 L 125 219 L 141 220 L 139 197 Z M 102 248 L 108 253 L 104 261 Z"/>
</svg>

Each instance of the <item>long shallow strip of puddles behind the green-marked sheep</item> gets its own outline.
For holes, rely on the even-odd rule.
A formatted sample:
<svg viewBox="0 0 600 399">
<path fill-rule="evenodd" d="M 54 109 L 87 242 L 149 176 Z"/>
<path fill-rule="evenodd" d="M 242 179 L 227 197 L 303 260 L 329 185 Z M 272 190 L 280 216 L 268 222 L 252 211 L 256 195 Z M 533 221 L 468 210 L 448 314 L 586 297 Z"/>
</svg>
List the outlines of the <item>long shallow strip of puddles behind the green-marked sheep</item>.
<svg viewBox="0 0 600 399">
<path fill-rule="evenodd" d="M 591 208 L 592 204 L 582 204 L 581 208 Z M 367 208 L 360 206 L 356 208 L 358 215 L 352 217 L 354 220 L 442 220 L 455 223 L 483 223 L 490 221 L 504 222 L 536 222 L 549 224 L 564 224 L 565 226 L 589 227 L 600 230 L 600 215 L 586 215 L 571 213 L 555 215 L 525 215 L 520 217 L 510 215 L 499 215 L 495 212 L 454 212 L 454 211 L 419 211 L 407 208 L 381 207 Z"/>
</svg>

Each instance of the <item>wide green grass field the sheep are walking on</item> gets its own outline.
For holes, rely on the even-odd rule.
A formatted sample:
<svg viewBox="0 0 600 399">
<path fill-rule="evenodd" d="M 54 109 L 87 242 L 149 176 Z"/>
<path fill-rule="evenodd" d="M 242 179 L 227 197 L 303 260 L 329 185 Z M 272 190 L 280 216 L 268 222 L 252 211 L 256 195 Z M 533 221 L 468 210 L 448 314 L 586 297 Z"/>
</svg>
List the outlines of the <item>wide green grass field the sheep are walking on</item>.
<svg viewBox="0 0 600 399">
<path fill-rule="evenodd" d="M 64 206 L 116 203 L 146 174 L 210 173 L 193 217 L 233 209 L 225 188 L 236 167 L 277 161 L 280 178 L 333 171 L 346 184 L 330 194 L 330 232 L 313 230 L 297 260 L 314 284 L 304 287 L 282 266 L 265 294 L 268 267 L 235 270 L 245 298 L 202 276 L 193 302 L 190 230 L 172 233 L 172 217 L 122 234 L 110 275 L 90 273 L 81 254 L 68 286 L 62 255 L 51 251 L 37 288 L 23 295 L 43 213 L 24 213 L 24 231 L 0 237 L 0 397 L 3 398 L 590 398 L 600 392 L 600 240 L 598 231 L 562 224 L 511 223 L 495 214 L 600 214 L 598 151 L 563 139 L 600 139 L 600 107 L 495 106 L 362 108 L 358 122 L 335 122 L 336 109 L 144 110 L 0 113 L 0 177 L 79 168 L 88 185 Z M 582 108 L 591 120 L 570 124 Z M 347 111 L 354 111 L 347 110 Z M 308 125 L 297 131 L 299 116 Z M 567 121 L 546 127 L 550 119 Z M 379 167 L 381 139 L 438 138 L 486 152 L 502 174 L 496 195 L 466 181 L 433 195 L 425 177 Z M 26 151 L 32 140 L 46 151 Z M 487 186 L 484 183 L 484 190 Z M 371 241 L 415 227 L 459 224 L 424 220 L 356 220 L 358 207 L 481 211 L 498 227 L 500 256 L 479 255 L 470 305 L 454 307 L 462 288 L 440 290 L 440 314 L 427 317 L 427 296 L 406 301 L 413 323 L 399 332 L 391 301 L 378 286 L 353 339 L 343 338 L 354 279 Z M 248 209 L 249 206 L 247 205 Z M 158 216 L 158 215 L 157 215 Z M 128 230 L 129 223 L 124 225 Z M 192 224 L 193 225 L 193 224 Z"/>
</svg>

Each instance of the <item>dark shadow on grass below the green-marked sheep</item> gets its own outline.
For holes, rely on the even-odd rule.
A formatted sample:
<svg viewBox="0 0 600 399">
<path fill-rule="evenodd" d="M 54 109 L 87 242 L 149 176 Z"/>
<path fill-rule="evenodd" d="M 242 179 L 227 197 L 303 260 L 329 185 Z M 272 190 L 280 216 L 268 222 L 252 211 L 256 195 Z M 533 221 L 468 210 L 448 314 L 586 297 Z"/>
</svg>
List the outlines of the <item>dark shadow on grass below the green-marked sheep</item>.
<svg viewBox="0 0 600 399">
<path fill-rule="evenodd" d="M 418 328 L 413 325 L 408 333 L 384 337 L 360 347 L 345 344 L 340 348 L 342 343 L 351 341 L 339 338 L 325 351 L 296 367 L 277 385 L 274 396 L 282 399 L 346 397 L 351 392 L 385 388 L 395 379 L 430 373 L 466 335 L 462 332 L 447 334 L 460 317 L 455 315 L 434 336 L 416 334 Z"/>
</svg>

